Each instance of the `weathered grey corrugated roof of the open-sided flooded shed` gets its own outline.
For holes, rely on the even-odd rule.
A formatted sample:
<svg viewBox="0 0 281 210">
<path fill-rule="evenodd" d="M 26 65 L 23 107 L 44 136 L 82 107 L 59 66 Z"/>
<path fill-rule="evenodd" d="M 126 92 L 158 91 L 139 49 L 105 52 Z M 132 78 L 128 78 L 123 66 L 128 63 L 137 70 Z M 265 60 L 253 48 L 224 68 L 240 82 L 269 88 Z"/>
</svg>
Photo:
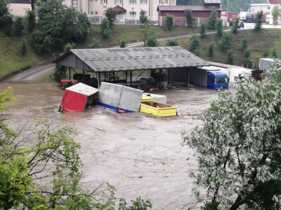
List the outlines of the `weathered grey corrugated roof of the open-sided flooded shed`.
<svg viewBox="0 0 281 210">
<path fill-rule="evenodd" d="M 208 66 L 209 63 L 182 47 L 146 47 L 70 50 L 94 72 L 150 70 Z M 68 53 L 61 55 L 57 63 Z"/>
</svg>

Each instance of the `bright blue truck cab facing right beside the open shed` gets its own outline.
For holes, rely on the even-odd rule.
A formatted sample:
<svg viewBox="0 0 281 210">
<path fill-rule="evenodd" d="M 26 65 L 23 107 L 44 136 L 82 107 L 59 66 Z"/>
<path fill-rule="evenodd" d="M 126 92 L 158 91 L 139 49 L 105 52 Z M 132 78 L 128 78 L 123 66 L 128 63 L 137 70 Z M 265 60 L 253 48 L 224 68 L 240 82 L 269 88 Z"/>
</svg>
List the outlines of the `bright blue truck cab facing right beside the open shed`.
<svg viewBox="0 0 281 210">
<path fill-rule="evenodd" d="M 222 72 L 207 72 L 207 88 L 217 90 L 218 88 L 228 89 L 227 74 Z"/>
</svg>

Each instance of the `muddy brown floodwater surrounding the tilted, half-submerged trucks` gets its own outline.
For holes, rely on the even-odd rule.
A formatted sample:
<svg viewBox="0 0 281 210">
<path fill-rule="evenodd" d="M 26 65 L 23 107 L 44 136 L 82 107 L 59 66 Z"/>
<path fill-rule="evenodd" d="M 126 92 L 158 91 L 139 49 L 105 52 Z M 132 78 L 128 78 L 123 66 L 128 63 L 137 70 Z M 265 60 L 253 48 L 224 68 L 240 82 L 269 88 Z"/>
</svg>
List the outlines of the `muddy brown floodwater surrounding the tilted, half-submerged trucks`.
<svg viewBox="0 0 281 210">
<path fill-rule="evenodd" d="M 84 113 L 60 113 L 63 91 L 56 84 L 1 83 L 0 91 L 7 86 L 17 98 L 5 109 L 11 125 L 38 117 L 73 118 L 88 175 L 85 183 L 109 182 L 117 199 L 129 201 L 140 195 L 151 199 L 153 209 L 200 209 L 203 203 L 191 197 L 193 180 L 188 177 L 196 172 L 197 162 L 190 148 L 181 147 L 180 132 L 202 123 L 196 116 L 208 108 L 215 91 L 192 87 L 153 92 L 167 95 L 168 104 L 178 106 L 179 116 L 159 118 L 141 112 L 118 114 L 99 106 Z"/>
</svg>

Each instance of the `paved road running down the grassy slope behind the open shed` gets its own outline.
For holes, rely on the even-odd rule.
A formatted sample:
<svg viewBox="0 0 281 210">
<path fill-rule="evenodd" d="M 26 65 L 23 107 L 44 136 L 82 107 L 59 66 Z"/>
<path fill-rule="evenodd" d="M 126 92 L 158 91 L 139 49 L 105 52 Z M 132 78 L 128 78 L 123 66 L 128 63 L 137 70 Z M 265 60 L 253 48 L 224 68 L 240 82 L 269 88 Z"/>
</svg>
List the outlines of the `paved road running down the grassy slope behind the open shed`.
<svg viewBox="0 0 281 210">
<path fill-rule="evenodd" d="M 253 29 L 255 27 L 255 23 L 245 23 L 245 29 Z M 263 28 L 276 28 L 276 29 L 281 29 L 281 25 L 269 25 L 269 24 L 263 24 L 262 25 Z M 239 30 L 243 30 L 243 29 L 239 29 Z M 225 30 L 225 31 L 229 31 L 229 30 Z M 207 34 L 214 34 L 216 32 L 209 32 Z M 199 34 L 197 34 L 199 35 Z M 157 39 L 158 42 L 162 42 L 162 41 L 167 41 L 167 40 L 171 40 L 171 39 L 180 39 L 180 38 L 186 38 L 186 37 L 191 37 L 192 35 L 183 35 L 183 36 L 177 36 L 177 37 L 169 37 L 169 38 L 162 38 L 162 39 Z M 139 42 L 134 42 L 134 43 L 130 43 L 127 45 L 127 47 L 136 47 L 139 45 L 143 45 L 143 41 L 139 41 Z M 113 46 L 111 48 L 119 48 L 119 46 Z M 48 73 L 49 71 L 52 71 L 55 69 L 55 64 L 48 64 L 48 65 L 42 65 L 39 67 L 34 67 L 28 71 L 22 72 L 20 74 L 17 74 L 3 82 L 13 82 L 13 83 L 30 83 L 31 81 L 41 77 L 42 75 Z"/>
</svg>

